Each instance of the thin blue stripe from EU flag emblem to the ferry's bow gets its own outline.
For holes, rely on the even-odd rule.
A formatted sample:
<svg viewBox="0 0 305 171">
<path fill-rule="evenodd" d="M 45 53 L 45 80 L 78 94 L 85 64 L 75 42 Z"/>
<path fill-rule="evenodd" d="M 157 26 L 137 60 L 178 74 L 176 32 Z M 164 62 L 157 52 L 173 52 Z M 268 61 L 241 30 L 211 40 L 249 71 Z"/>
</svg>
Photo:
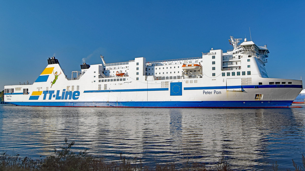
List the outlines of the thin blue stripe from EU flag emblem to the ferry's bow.
<svg viewBox="0 0 305 171">
<path fill-rule="evenodd" d="M 185 87 L 184 90 L 204 90 L 204 89 L 238 89 L 240 85 L 236 86 L 214 86 L 214 87 Z M 243 89 L 251 88 L 302 88 L 303 85 L 292 85 L 292 84 L 278 84 L 278 85 L 242 85 Z"/>
</svg>

